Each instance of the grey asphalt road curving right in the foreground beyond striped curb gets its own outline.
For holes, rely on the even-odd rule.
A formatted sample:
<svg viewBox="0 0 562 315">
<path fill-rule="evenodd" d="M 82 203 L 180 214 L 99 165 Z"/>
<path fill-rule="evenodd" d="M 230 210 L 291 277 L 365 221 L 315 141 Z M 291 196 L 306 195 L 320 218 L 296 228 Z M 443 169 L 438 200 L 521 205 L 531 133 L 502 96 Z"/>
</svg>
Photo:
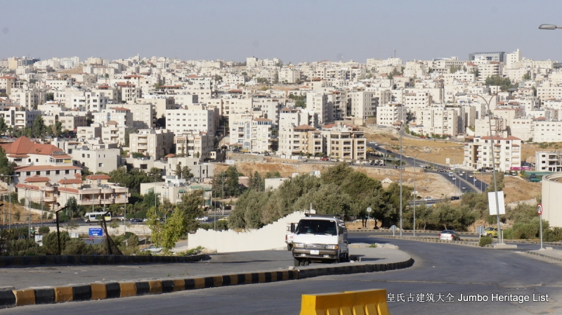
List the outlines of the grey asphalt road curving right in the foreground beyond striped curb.
<svg viewBox="0 0 562 315">
<path fill-rule="evenodd" d="M 555 276 L 560 274 L 559 264 L 511 250 L 377 239 L 367 233 L 350 233 L 349 239 L 398 245 L 416 262 L 396 271 L 19 307 L 0 310 L 0 314 L 99 314 L 104 310 L 116 314 L 298 314 L 302 294 L 372 288 L 386 288 L 394 300 L 403 297 L 404 302 L 388 302 L 391 314 L 549 314 L 562 308 L 562 281 Z M 510 294 L 530 301 L 492 301 Z M 467 295 L 488 301 L 459 302 Z M 548 302 L 532 302 L 533 297 L 546 299 L 546 295 Z M 438 302 L 426 302 L 432 296 Z"/>
</svg>

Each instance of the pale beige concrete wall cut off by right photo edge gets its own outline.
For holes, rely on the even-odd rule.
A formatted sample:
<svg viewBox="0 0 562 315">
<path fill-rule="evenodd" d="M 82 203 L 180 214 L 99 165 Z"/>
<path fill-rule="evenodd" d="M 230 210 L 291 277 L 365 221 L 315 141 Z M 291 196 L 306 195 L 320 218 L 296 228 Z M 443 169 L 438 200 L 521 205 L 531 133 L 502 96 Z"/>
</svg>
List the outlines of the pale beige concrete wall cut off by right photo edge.
<svg viewBox="0 0 562 315">
<path fill-rule="evenodd" d="M 562 174 L 542 176 L 542 219 L 550 226 L 562 227 Z"/>
</svg>

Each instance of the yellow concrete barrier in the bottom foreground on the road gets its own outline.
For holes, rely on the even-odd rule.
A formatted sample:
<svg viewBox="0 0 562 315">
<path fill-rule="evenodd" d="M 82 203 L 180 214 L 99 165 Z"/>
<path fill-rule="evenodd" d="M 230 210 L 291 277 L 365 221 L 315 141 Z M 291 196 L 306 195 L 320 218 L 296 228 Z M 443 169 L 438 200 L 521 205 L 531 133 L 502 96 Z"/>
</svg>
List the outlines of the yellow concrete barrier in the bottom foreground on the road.
<svg viewBox="0 0 562 315">
<path fill-rule="evenodd" d="M 386 289 L 302 295 L 301 315 L 388 315 Z"/>
</svg>

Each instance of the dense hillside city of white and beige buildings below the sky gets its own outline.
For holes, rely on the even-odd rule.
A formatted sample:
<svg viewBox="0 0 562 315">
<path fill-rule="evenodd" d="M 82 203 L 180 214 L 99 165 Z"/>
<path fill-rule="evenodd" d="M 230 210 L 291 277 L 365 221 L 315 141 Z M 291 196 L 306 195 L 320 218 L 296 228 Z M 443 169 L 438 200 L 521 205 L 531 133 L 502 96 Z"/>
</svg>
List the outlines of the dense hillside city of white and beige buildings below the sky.
<svg viewBox="0 0 562 315">
<path fill-rule="evenodd" d="M 549 143 L 562 141 L 558 119 L 562 63 L 524 58 L 519 50 L 475 52 L 467 57 L 404 62 L 393 56 L 365 63 L 296 64 L 256 57 L 242 62 L 138 55 L 118 60 L 4 58 L 0 61 L 0 134 L 4 135 L 0 176 L 16 202 L 27 200 L 22 205 L 53 212 L 75 203 L 73 207 L 80 210 L 70 217 L 107 207 L 125 219 L 145 219 L 154 205 L 152 216 L 162 219 L 193 192 L 200 192 L 191 200 L 202 207 L 192 212 L 190 219 L 195 222 L 186 228 L 190 231 L 197 229 L 197 221 L 204 221 L 203 216 L 219 211 L 225 215 L 225 200 L 230 208 L 232 198 L 244 189 L 275 190 L 298 175 L 281 174 L 275 166 L 265 174 L 247 165 L 242 173 L 244 162 L 279 167 L 308 160 L 329 165 L 348 162 L 393 166 L 402 176 L 398 137 L 424 141 L 414 148 L 447 143 L 450 147 L 445 150 L 459 149 L 455 160 L 427 154 L 420 155 L 425 161 L 420 163 L 436 163 L 430 168 L 446 172 L 463 169 L 462 174 L 470 172 L 471 178 L 488 174 L 478 188 L 476 178 L 473 183 L 465 178 L 467 186 L 474 184 L 475 193 L 485 188 L 493 191 L 488 184 L 494 168 L 502 173 L 502 185 L 503 174 L 530 175 L 528 180 L 534 181 L 536 175 L 540 179 L 561 172 L 561 153 Z M 391 143 L 381 143 L 386 150 L 375 142 L 381 135 L 391 137 Z M 523 146 L 528 143 L 542 144 L 525 156 Z M 427 164 L 417 167 L 425 169 Z M 312 168 L 311 174 L 320 176 L 320 170 Z M 398 171 L 393 172 L 383 174 L 395 179 L 395 186 L 384 186 L 388 200 L 401 180 L 396 179 Z M 375 183 L 379 185 L 381 179 Z M 455 192 L 455 184 L 433 184 L 435 195 L 448 198 L 451 193 L 443 191 L 445 186 Z M 461 184 L 458 190 L 461 194 Z M 405 194 L 404 205 L 412 200 L 412 191 Z M 452 198 L 458 199 L 460 195 Z M 218 221 L 219 229 L 259 228 L 307 207 L 297 204 L 303 209 L 258 215 L 253 223 L 249 214 L 229 223 Z M 400 206 L 392 209 L 392 219 L 388 209 L 379 217 L 373 215 L 375 224 L 377 219 L 386 227 L 396 222 Z M 346 216 L 366 216 L 363 206 L 350 207 Z M 13 219 L 13 214 L 8 217 Z M 467 229 L 477 219 L 486 218 L 476 214 L 457 228 Z M 6 220 L 4 216 L 3 224 L 8 224 Z M 426 225 L 446 228 L 439 222 L 429 220 Z M 214 224 L 211 228 L 216 229 Z M 562 226 L 562 221 L 553 217 L 550 226 Z"/>
</svg>

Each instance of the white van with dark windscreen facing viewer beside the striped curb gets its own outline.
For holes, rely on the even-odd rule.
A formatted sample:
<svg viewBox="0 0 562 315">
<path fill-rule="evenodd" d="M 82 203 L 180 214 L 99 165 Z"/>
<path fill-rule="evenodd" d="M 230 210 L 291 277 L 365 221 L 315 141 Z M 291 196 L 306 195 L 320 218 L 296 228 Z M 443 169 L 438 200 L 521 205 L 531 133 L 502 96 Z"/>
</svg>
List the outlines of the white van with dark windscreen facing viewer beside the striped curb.
<svg viewBox="0 0 562 315">
<path fill-rule="evenodd" d="M 294 266 L 310 262 L 348 262 L 349 249 L 344 220 L 335 214 L 305 214 L 293 236 Z"/>
</svg>

